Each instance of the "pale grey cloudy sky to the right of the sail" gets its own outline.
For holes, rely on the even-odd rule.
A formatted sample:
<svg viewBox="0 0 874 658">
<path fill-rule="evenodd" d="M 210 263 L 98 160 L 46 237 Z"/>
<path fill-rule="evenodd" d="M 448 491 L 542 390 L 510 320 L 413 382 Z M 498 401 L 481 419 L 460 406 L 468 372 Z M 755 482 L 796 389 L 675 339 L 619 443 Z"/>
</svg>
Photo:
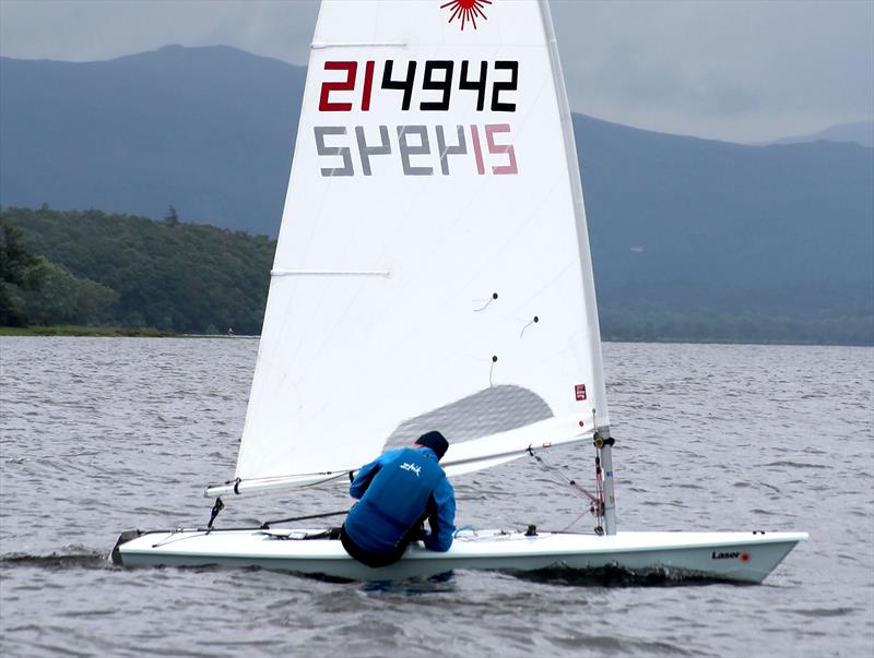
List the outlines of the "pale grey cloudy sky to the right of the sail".
<svg viewBox="0 0 874 658">
<path fill-rule="evenodd" d="M 580 111 L 648 128 L 672 115 L 677 132 L 722 117 L 714 136 L 741 140 L 874 116 L 874 3 L 554 2 L 553 15 Z"/>
</svg>

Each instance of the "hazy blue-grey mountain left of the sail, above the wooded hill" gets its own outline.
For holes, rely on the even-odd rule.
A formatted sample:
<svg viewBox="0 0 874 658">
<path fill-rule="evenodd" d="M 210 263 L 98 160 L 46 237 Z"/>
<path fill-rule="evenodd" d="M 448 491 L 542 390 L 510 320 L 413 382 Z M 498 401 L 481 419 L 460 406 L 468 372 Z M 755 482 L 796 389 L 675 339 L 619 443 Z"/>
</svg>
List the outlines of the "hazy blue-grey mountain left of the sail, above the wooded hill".
<svg viewBox="0 0 874 658">
<path fill-rule="evenodd" d="M 0 58 L 0 203 L 275 236 L 306 70 L 232 48 Z"/>
</svg>

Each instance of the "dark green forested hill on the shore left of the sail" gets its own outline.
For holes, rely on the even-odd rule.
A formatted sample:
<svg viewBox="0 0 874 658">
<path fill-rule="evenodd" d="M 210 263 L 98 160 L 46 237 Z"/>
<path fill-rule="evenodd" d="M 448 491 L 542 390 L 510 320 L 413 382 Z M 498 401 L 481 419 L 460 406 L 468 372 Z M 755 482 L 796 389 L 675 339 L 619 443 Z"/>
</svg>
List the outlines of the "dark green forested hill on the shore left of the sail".
<svg viewBox="0 0 874 658">
<path fill-rule="evenodd" d="M 173 212 L 155 222 L 99 211 L 7 208 L 2 225 L 49 262 L 48 271 L 45 262 L 31 262 L 33 274 L 0 282 L 24 323 L 261 332 L 276 246 L 267 237 L 180 223 Z M 8 253 L 3 260 L 10 261 Z M 42 285 L 28 286 L 34 278 Z M 70 298 L 79 302 L 71 306 Z"/>
</svg>

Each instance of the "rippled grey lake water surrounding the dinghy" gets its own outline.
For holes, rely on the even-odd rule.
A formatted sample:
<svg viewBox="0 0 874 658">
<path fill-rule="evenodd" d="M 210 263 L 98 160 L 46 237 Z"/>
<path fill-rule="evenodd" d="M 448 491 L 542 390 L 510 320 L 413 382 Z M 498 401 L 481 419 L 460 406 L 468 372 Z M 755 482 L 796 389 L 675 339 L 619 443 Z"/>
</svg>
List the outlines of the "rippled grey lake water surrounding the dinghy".
<svg viewBox="0 0 874 658">
<path fill-rule="evenodd" d="M 113 566 L 120 530 L 205 524 L 257 347 L 0 337 L 0 655 L 874 654 L 874 349 L 604 345 L 621 528 L 808 531 L 759 586 Z M 546 458 L 586 486 L 592 453 Z M 456 489 L 459 526 L 592 526 L 533 460 Z M 347 504 L 237 500 L 220 525 Z"/>
</svg>

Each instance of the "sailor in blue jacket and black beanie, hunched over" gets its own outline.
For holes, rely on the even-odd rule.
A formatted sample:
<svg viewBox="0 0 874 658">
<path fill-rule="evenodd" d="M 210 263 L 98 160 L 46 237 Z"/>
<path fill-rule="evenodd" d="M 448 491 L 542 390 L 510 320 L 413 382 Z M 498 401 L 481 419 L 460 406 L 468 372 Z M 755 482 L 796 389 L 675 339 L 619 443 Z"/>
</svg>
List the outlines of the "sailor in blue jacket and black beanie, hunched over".
<svg viewBox="0 0 874 658">
<path fill-rule="evenodd" d="M 349 488 L 359 502 L 340 530 L 346 552 L 367 566 L 401 559 L 411 541 L 448 551 L 456 530 L 456 493 L 438 462 L 449 442 L 427 432 L 411 447 L 392 450 L 362 466 Z M 424 529 L 428 521 L 430 531 Z"/>
</svg>

